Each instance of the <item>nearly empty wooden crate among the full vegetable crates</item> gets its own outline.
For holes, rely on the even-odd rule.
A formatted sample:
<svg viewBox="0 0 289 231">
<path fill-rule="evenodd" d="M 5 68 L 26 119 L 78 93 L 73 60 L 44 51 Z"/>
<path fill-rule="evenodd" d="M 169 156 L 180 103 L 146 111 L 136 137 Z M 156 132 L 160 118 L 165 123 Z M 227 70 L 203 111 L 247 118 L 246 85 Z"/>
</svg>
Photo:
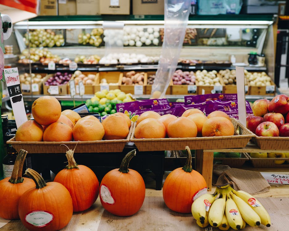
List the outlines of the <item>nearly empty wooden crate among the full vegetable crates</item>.
<svg viewBox="0 0 289 231">
<path fill-rule="evenodd" d="M 106 79 L 109 90 L 120 89 L 122 84 L 122 72 L 120 71 L 101 71 L 97 73 L 97 79 L 94 82 L 94 92 L 101 90 L 101 80 Z M 112 84 L 116 83 L 116 84 Z"/>
</svg>

